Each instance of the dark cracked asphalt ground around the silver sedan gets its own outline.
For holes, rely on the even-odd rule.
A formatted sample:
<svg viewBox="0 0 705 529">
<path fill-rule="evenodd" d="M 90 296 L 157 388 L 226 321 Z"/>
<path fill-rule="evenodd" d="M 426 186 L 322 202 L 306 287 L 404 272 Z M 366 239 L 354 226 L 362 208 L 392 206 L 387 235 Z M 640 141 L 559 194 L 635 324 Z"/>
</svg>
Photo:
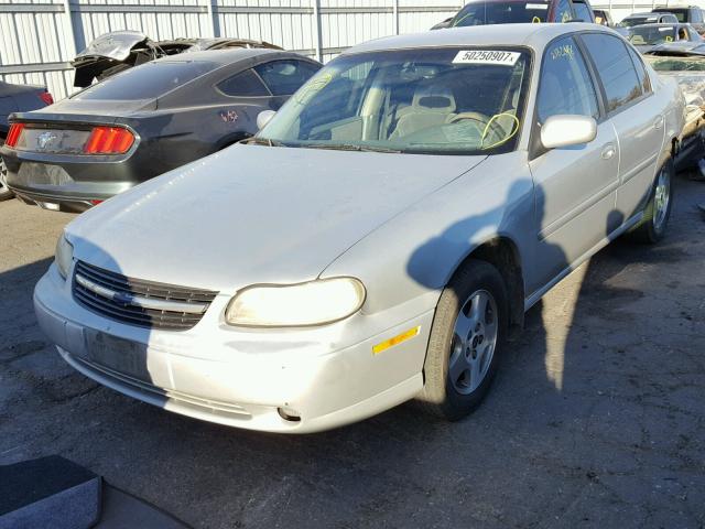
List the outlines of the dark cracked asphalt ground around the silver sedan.
<svg viewBox="0 0 705 529">
<path fill-rule="evenodd" d="M 194 527 L 705 526 L 705 184 L 669 237 L 617 241 L 532 309 L 485 404 L 280 436 L 208 424 L 64 365 L 31 293 L 70 215 L 0 203 L 0 464 L 57 453 Z"/>
</svg>

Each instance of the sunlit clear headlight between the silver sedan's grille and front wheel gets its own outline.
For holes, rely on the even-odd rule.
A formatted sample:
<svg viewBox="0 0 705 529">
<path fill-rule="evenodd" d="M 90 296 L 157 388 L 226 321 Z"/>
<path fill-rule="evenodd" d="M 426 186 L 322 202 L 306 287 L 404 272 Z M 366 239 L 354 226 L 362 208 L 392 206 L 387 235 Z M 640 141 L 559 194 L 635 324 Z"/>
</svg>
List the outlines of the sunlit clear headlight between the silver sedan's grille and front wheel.
<svg viewBox="0 0 705 529">
<path fill-rule="evenodd" d="M 230 325 L 254 327 L 321 325 L 348 317 L 364 301 L 365 287 L 354 278 L 254 285 L 232 298 L 225 319 Z"/>
</svg>

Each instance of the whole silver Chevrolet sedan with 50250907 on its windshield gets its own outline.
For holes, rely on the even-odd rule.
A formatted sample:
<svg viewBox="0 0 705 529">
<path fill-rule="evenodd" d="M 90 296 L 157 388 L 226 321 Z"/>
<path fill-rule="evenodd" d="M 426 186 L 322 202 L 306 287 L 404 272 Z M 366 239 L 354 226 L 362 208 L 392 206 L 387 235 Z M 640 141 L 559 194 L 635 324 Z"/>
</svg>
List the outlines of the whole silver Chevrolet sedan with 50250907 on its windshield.
<svg viewBox="0 0 705 529">
<path fill-rule="evenodd" d="M 417 399 L 456 420 L 549 289 L 663 237 L 683 111 L 595 24 L 361 44 L 246 144 L 70 223 L 36 314 L 77 370 L 185 415 L 302 433 Z"/>
</svg>

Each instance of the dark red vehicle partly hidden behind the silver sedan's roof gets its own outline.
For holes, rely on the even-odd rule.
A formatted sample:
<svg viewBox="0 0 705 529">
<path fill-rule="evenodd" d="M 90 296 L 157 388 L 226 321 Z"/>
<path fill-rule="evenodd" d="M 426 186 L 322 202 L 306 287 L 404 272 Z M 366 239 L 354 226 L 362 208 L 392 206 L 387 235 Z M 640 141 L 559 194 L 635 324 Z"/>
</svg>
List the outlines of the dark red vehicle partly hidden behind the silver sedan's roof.
<svg viewBox="0 0 705 529">
<path fill-rule="evenodd" d="M 595 22 L 588 0 L 477 0 L 467 3 L 457 14 L 432 30 L 466 25 L 511 24 L 522 22 Z"/>
</svg>

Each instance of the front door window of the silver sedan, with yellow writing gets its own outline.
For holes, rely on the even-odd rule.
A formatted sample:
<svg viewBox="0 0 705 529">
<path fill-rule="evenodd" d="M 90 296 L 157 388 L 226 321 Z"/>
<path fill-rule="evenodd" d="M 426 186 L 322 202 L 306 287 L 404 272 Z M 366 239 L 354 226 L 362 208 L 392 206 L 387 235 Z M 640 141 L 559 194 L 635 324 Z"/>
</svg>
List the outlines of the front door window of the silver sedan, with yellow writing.
<svg viewBox="0 0 705 529">
<path fill-rule="evenodd" d="M 560 114 L 599 117 L 595 87 L 573 37 L 555 41 L 545 51 L 538 112 L 540 123 Z"/>
</svg>

